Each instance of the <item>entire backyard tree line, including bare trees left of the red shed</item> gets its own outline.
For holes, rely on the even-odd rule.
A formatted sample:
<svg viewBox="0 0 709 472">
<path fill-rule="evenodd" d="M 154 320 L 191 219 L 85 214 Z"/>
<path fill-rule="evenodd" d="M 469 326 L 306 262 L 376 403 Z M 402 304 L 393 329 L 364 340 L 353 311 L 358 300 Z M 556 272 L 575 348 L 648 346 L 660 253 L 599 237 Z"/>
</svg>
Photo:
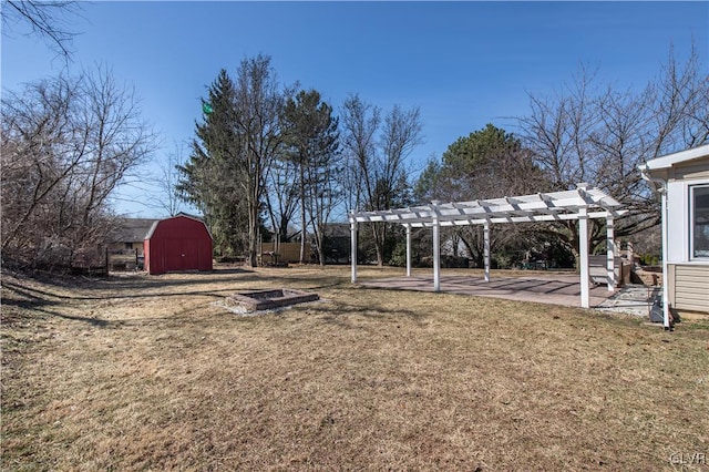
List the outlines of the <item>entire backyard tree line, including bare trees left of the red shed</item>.
<svg viewBox="0 0 709 472">
<path fill-rule="evenodd" d="M 618 90 L 580 70 L 548 96 L 528 94 L 515 133 L 492 124 L 461 136 L 413 177 L 409 157 L 423 142 L 418 107 L 391 110 L 349 95 L 339 106 L 298 83 L 281 85 L 271 60 L 222 70 L 203 98 L 189 157 L 174 184 L 212 229 L 217 255 L 255 265 L 260 240 L 312 242 L 327 256 L 327 224 L 343 209 L 387 209 L 439 201 L 495 198 L 574 188 L 587 182 L 620 201 L 627 237 L 659 223 L 657 197 L 641 182 L 646 160 L 709 141 L 709 82 L 692 50 L 674 51 L 641 90 Z M 158 140 L 130 88 L 99 68 L 62 74 L 2 96 L 2 258 L 21 265 L 71 264 L 105 242 L 114 189 Z M 172 186 L 172 185 L 171 185 Z M 171 205 L 174 207 L 174 205 Z M 592 247 L 605 222 L 590 226 Z M 453 250 L 482 258 L 480 228 L 446 229 Z M 368 225 L 363 257 L 401 259 L 401 228 Z M 429 247 L 419 235 L 421 252 Z M 574 254 L 573 223 L 507 225 L 493 252 L 546 247 Z M 306 260 L 304 260 L 306 261 Z"/>
</svg>

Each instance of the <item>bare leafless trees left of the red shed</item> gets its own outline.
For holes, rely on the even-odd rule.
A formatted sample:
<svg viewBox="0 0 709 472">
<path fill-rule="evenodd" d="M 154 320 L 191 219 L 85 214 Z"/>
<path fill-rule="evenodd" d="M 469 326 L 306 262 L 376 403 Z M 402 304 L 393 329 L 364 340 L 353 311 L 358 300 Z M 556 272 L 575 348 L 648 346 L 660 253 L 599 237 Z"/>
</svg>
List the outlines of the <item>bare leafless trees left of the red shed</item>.
<svg viewBox="0 0 709 472">
<path fill-rule="evenodd" d="M 105 243 L 109 197 L 154 150 L 137 100 L 99 69 L 2 99 L 2 256 L 71 265 Z"/>
</svg>

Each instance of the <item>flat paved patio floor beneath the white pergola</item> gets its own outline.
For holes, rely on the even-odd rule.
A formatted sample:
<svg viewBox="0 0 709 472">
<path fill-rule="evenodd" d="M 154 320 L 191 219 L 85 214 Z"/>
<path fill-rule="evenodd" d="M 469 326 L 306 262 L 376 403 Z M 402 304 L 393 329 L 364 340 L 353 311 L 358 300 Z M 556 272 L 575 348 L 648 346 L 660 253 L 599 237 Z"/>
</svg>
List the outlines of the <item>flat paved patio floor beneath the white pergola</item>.
<svg viewBox="0 0 709 472">
<path fill-rule="evenodd" d="M 390 277 L 360 280 L 359 284 L 369 288 L 433 291 L 432 276 Z M 592 286 L 590 308 L 647 317 L 656 289 L 630 285 L 608 291 L 605 285 Z M 441 275 L 441 291 L 567 307 L 578 307 L 580 301 L 578 275 L 494 277 L 490 281 L 485 281 L 481 276 Z"/>
</svg>

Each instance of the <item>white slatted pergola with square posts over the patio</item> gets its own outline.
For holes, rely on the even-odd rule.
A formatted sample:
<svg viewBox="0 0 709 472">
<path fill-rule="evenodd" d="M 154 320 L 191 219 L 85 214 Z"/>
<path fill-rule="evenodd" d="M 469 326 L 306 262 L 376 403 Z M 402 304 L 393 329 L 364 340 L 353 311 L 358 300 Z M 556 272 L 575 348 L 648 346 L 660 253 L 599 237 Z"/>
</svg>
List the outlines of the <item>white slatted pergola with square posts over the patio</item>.
<svg viewBox="0 0 709 472">
<path fill-rule="evenodd" d="M 598 188 L 577 184 L 576 189 L 538 193 L 515 197 L 439 203 L 378 212 L 350 212 L 352 284 L 357 283 L 357 230 L 359 223 L 397 223 L 407 228 L 407 276 L 411 277 L 411 228 L 433 230 L 433 289 L 441 289 L 440 228 L 442 226 L 483 225 L 484 279 L 490 281 L 490 225 L 578 220 L 580 256 L 580 306 L 589 307 L 588 218 L 606 218 L 607 285 L 613 291 L 615 277 L 614 218 L 625 214 L 620 204 Z"/>
</svg>

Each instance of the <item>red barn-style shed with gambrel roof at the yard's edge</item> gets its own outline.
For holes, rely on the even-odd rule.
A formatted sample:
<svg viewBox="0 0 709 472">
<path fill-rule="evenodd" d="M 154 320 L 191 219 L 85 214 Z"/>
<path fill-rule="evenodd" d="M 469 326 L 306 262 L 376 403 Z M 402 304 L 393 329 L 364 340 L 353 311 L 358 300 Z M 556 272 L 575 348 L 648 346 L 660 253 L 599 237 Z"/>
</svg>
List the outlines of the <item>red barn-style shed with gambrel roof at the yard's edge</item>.
<svg viewBox="0 0 709 472">
<path fill-rule="evenodd" d="M 212 270 L 212 235 L 202 219 L 179 214 L 153 223 L 143 242 L 145 270 Z"/>
</svg>

